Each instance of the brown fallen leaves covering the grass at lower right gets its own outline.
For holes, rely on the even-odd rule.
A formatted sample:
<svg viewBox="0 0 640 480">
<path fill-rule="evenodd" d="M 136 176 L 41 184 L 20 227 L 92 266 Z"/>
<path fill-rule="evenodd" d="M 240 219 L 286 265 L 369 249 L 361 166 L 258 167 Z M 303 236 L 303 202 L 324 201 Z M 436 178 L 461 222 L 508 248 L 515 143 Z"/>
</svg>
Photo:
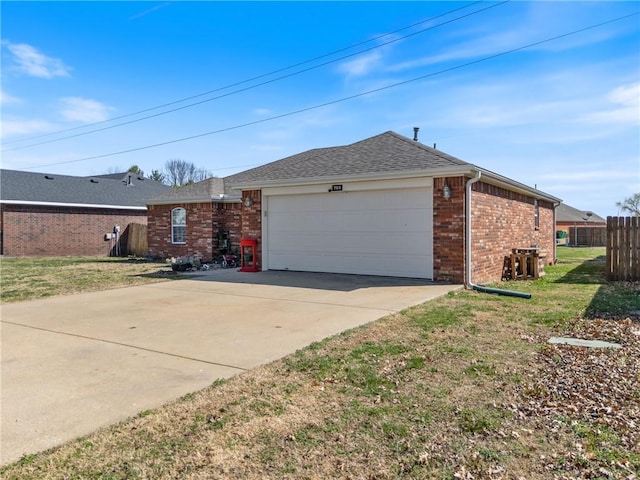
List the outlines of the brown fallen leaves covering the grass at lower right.
<svg viewBox="0 0 640 480">
<path fill-rule="evenodd" d="M 571 467 L 582 478 L 638 478 L 640 468 L 640 324 L 579 319 L 568 336 L 620 349 L 545 344 L 508 406 L 516 419 L 540 419 L 551 433 L 569 428 L 582 440 L 541 459 L 554 478 Z M 631 452 L 622 453 L 622 452 Z"/>
</svg>

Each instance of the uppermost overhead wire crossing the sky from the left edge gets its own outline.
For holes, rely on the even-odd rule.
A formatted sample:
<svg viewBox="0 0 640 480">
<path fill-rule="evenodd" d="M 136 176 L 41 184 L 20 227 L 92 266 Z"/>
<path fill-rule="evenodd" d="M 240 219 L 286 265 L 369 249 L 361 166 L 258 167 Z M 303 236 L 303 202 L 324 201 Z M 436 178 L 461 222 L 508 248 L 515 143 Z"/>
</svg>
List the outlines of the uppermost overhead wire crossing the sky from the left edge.
<svg viewBox="0 0 640 480">
<path fill-rule="evenodd" d="M 409 30 L 409 29 L 411 29 L 411 28 L 417 27 L 418 25 L 422 25 L 422 24 L 424 24 L 424 23 L 431 22 L 431 21 L 436 20 L 436 19 L 438 19 L 438 18 L 445 17 L 445 16 L 450 15 L 450 14 L 452 14 L 452 13 L 455 13 L 455 12 L 457 12 L 457 11 L 459 11 L 459 10 L 464 10 L 464 9 L 466 9 L 466 8 L 472 7 L 472 6 L 474 6 L 474 5 L 478 4 L 478 3 L 483 3 L 483 1 L 484 1 L 484 0 L 479 0 L 479 1 L 476 1 L 476 2 L 472 2 L 472 3 L 469 3 L 469 4 L 467 4 L 467 5 L 463 5 L 462 7 L 454 8 L 453 10 L 449 10 L 448 12 L 441 13 L 440 15 L 436 15 L 436 16 L 434 16 L 434 17 L 428 18 L 428 19 L 426 19 L 426 20 L 421 20 L 421 21 L 419 21 L 419 22 L 413 23 L 413 24 L 408 25 L 408 26 L 406 26 L 406 27 L 402 27 L 402 28 L 399 28 L 399 29 L 397 29 L 397 30 L 393 30 L 393 31 L 391 31 L 391 32 L 388 32 L 388 33 L 384 33 L 384 34 L 378 35 L 378 36 L 373 37 L 373 38 L 371 38 L 371 39 L 369 39 L 369 40 L 364 40 L 364 41 L 362 41 L 362 42 L 354 43 L 354 44 L 349 45 L 349 46 L 347 46 L 347 47 L 343 47 L 343 48 L 340 48 L 340 49 L 338 49 L 338 50 L 334 50 L 334 51 L 329 52 L 329 53 L 324 53 L 324 54 L 319 55 L 319 56 L 317 56 L 317 57 L 313 57 L 313 58 L 311 58 L 311 59 L 304 60 L 304 61 L 302 61 L 302 62 L 298 62 L 298 63 L 295 63 L 295 64 L 293 64 L 293 65 L 289 65 L 289 66 L 287 66 L 287 67 L 282 67 L 282 68 L 279 68 L 279 69 L 273 70 L 273 71 L 271 71 L 271 72 L 263 73 L 263 74 L 260 74 L 260 75 L 255 76 L 255 77 L 248 78 L 248 79 L 246 79 L 246 80 L 240 80 L 240 81 L 237 81 L 237 82 L 235 82 L 235 83 L 231 83 L 231 84 L 228 84 L 228 85 L 225 85 L 225 86 L 222 86 L 222 87 L 215 88 L 215 89 L 213 89 L 213 90 L 209 90 L 209 91 L 206 91 L 206 92 L 203 92 L 203 93 L 198 93 L 198 94 L 196 94 L 196 95 L 192 95 L 192 96 L 190 96 L 190 97 L 181 98 L 181 99 L 179 99 L 179 100 L 174 100 L 174 101 L 171 101 L 171 102 L 168 102 L 168 103 L 164 103 L 164 104 L 162 104 L 162 105 L 157 105 L 157 106 L 155 106 L 155 107 L 149 107 L 149 108 L 146 108 L 146 109 L 144 109 L 144 110 L 139 110 L 139 111 L 137 111 L 137 112 L 127 113 L 127 114 L 124 114 L 124 115 L 120 115 L 120 116 L 117 116 L 117 117 L 112 117 L 112 118 L 109 118 L 109 119 L 107 119 L 107 120 L 102 120 L 102 121 L 99 121 L 99 122 L 93 122 L 93 123 L 88 123 L 88 124 L 80 125 L 80 126 L 77 126 L 77 127 L 66 128 L 66 129 L 63 129 L 63 130 L 58 130 L 58 131 L 56 131 L 56 132 L 45 133 L 45 134 L 42 134 L 42 135 L 34 135 L 34 136 L 31 136 L 31 137 L 25 137 L 25 138 L 20 138 L 20 139 L 16 139 L 16 140 L 10 140 L 9 142 L 5 142 L 5 145 L 7 145 L 7 144 L 12 144 L 12 143 L 16 143 L 16 142 L 23 142 L 23 141 L 26 141 L 26 140 L 35 140 L 35 139 L 38 139 L 38 138 L 49 137 L 49 136 L 52 136 L 52 135 L 59 135 L 59 134 L 61 134 L 61 133 L 71 132 L 71 131 L 79 130 L 79 129 L 82 129 L 82 128 L 89 128 L 89 127 L 93 127 L 93 126 L 96 126 L 96 125 L 102 125 L 102 124 L 104 124 L 104 123 L 113 122 L 113 121 L 115 121 L 115 120 L 122 120 L 122 119 L 124 119 L 124 118 L 133 117 L 133 116 L 135 116 L 135 115 L 140 115 L 140 114 L 143 114 L 143 113 L 151 112 L 151 111 L 153 111 L 153 110 L 158 110 L 158 109 L 160 109 L 160 108 L 170 107 L 170 106 L 172 106 L 172 105 L 176 105 L 176 104 L 178 104 L 178 103 L 182 103 L 182 102 L 187 102 L 187 101 L 189 101 L 189 100 L 193 100 L 193 99 L 195 99 L 195 98 L 204 97 L 204 96 L 206 96 L 206 95 L 210 95 L 210 94 L 212 94 L 212 93 L 216 93 L 216 92 L 219 92 L 219 91 L 222 91 L 222 90 L 226 90 L 226 89 L 228 89 L 228 88 L 237 87 L 237 86 L 239 86 L 239 85 L 243 85 L 243 84 L 245 84 L 245 83 L 253 82 L 253 81 L 255 81 L 255 80 L 260 80 L 261 78 L 265 78 L 265 77 L 268 77 L 268 76 L 270 76 L 270 75 L 275 75 L 275 74 L 277 74 L 277 73 L 284 72 L 284 71 L 286 71 L 286 70 L 291 70 L 292 68 L 300 67 L 300 66 L 302 66 L 302 65 L 306 65 L 306 64 L 308 64 L 308 63 L 312 63 L 312 62 L 315 62 L 315 61 L 317 61 L 317 60 L 322 60 L 323 58 L 327 58 L 327 57 L 330 57 L 330 56 L 336 55 L 336 54 L 338 54 L 338 53 L 342 53 L 342 52 L 345 52 L 345 51 L 347 51 L 347 50 L 351 50 L 351 49 L 353 49 L 353 48 L 357 48 L 357 47 L 360 47 L 360 46 L 362 46 L 362 45 L 366 45 L 366 44 L 368 44 L 368 43 L 378 41 L 378 40 L 380 40 L 380 39 L 382 39 L 382 38 L 386 38 L 386 37 L 389 37 L 389 36 L 391 36 L 391 35 L 395 35 L 395 34 L 397 34 L 397 33 L 399 33 L 399 32 L 402 32 L 402 31 Z M 510 0 L 507 0 L 507 1 L 510 1 Z M 506 2 L 501 2 L 501 3 L 506 3 Z M 480 11 L 482 11 L 482 10 L 480 10 Z M 477 12 L 475 12 L 475 13 L 477 13 Z M 460 17 L 460 18 L 464 18 L 464 17 Z M 432 28 L 435 28 L 435 27 L 432 27 Z M 403 38 L 404 38 L 404 37 L 403 37 Z M 379 45 L 378 47 L 374 47 L 374 48 L 379 48 L 379 47 L 384 46 L 384 45 L 386 45 L 386 44 L 382 44 L 382 45 Z M 353 54 L 353 55 L 358 55 L 358 54 L 360 54 L 360 53 L 367 52 L 367 51 L 369 51 L 369 50 L 370 50 L 370 49 L 362 50 L 362 51 L 360 51 L 360 52 L 356 52 L 356 53 L 355 53 L 355 54 Z M 353 55 L 349 55 L 349 56 L 353 56 Z M 348 57 L 348 56 L 347 56 L 347 57 Z M 339 61 L 339 60 L 342 60 L 342 59 L 347 58 L 347 57 L 341 57 L 341 58 L 338 58 L 338 59 L 336 59 L 336 60 L 334 60 L 334 61 Z M 327 65 L 328 63 L 331 63 L 331 62 L 323 63 L 323 64 L 322 64 L 322 65 L 320 65 L 320 66 Z M 314 68 L 317 68 L 317 67 L 314 67 Z M 310 70 L 310 69 L 302 70 L 301 72 L 298 72 L 298 73 L 306 72 L 306 71 L 308 71 L 308 70 Z M 276 79 L 276 80 L 279 80 L 279 79 L 281 79 L 281 78 L 286 78 L 286 76 L 285 76 L 285 77 L 280 77 L 280 78 L 278 78 L 278 79 Z M 275 80 L 274 80 L 274 81 L 275 81 Z M 269 83 L 269 82 L 260 83 L 260 84 L 258 84 L 258 85 L 256 85 L 256 86 L 265 85 L 266 83 Z M 253 87 L 251 87 L 251 88 L 253 88 Z M 247 89 L 238 90 L 237 92 L 242 92 L 242 91 L 244 91 L 244 90 L 247 90 Z M 233 92 L 233 93 L 237 93 L 237 92 Z M 215 98 L 213 98 L 213 99 L 211 99 L 211 100 L 216 100 L 216 99 L 218 99 L 218 98 L 221 98 L 221 97 L 215 97 Z M 194 104 L 192 104 L 192 105 L 187 105 L 187 107 L 189 107 L 189 106 L 193 106 L 193 105 L 199 105 L 200 103 L 203 103 L 203 102 L 198 102 L 198 103 L 194 103 Z M 186 108 L 186 107 L 183 107 L 183 108 Z M 179 109 L 176 109 L 176 110 L 179 110 Z M 170 113 L 170 112 L 173 112 L 173 111 L 176 111 L 176 110 L 169 110 L 169 111 L 164 112 L 164 113 Z M 160 115 L 164 115 L 164 113 L 162 113 L 162 114 L 160 114 Z M 154 116 L 157 116 L 157 115 L 152 115 L 152 116 L 150 116 L 150 117 L 144 117 L 144 118 L 141 118 L 141 119 L 138 119 L 138 120 L 134 120 L 134 121 L 145 120 L 145 119 L 147 119 L 147 118 L 152 118 L 152 117 L 154 117 Z M 129 123 L 133 123 L 133 121 L 132 121 L 132 122 L 121 123 L 121 124 L 119 124 L 119 125 L 114 125 L 114 127 L 117 127 L 117 126 L 120 126 L 120 125 L 127 125 L 127 124 L 129 124 Z M 113 127 L 107 127 L 107 128 L 113 128 Z M 86 133 L 93 133 L 93 132 L 97 132 L 97 131 L 101 131 L 101 130 L 104 130 L 104 129 L 93 130 L 93 131 L 91 131 L 91 132 L 86 132 Z M 80 134 L 80 135 L 82 135 L 82 134 Z M 70 136 L 70 137 L 64 137 L 64 138 L 61 138 L 61 139 L 59 139 L 59 140 L 63 140 L 63 139 L 66 139 L 66 138 L 73 138 L 73 137 L 75 137 L 75 136 L 78 136 L 78 135 L 73 135 L 73 136 Z M 52 140 L 52 141 L 56 141 L 56 140 Z M 27 148 L 27 147 L 35 146 L 35 145 L 42 145 L 43 143 L 49 143 L 49 142 L 36 143 L 36 144 L 33 144 L 33 145 L 26 145 L 26 146 L 24 146 L 24 147 L 19 147 L 19 148 Z M 3 151 L 8 151 L 8 150 L 17 150 L 17 149 L 18 149 L 18 148 L 11 148 L 11 149 L 7 149 L 7 150 L 3 150 Z"/>
</svg>

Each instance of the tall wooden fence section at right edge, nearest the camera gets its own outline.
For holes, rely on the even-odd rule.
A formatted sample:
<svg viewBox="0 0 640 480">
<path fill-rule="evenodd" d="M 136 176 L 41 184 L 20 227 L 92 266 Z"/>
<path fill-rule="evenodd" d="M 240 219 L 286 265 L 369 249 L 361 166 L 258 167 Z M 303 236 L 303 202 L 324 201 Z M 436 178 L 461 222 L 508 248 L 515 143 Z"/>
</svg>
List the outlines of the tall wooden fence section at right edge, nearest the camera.
<svg viewBox="0 0 640 480">
<path fill-rule="evenodd" d="M 640 217 L 607 217 L 607 279 L 640 280 Z"/>
</svg>

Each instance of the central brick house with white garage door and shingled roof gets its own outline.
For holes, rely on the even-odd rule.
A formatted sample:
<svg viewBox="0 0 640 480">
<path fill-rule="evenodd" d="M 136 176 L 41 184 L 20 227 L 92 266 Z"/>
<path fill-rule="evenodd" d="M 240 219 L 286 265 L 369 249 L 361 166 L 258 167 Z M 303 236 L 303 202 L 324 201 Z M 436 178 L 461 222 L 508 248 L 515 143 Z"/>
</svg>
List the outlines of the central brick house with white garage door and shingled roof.
<svg viewBox="0 0 640 480">
<path fill-rule="evenodd" d="M 386 132 L 151 200 L 149 253 L 214 258 L 222 228 L 236 248 L 257 241 L 263 270 L 472 285 L 499 281 L 513 248 L 537 246 L 553 262 L 559 203 Z"/>
</svg>

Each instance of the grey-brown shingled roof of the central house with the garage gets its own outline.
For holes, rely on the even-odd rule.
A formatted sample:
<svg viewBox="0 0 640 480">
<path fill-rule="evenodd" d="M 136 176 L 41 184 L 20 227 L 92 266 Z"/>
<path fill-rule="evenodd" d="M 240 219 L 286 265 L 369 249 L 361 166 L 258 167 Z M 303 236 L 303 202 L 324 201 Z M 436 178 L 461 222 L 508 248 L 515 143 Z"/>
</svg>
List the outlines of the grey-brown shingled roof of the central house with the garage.
<svg viewBox="0 0 640 480">
<path fill-rule="evenodd" d="M 202 184 L 198 187 L 192 186 L 191 190 L 181 187 L 174 194 L 165 193 L 149 203 L 215 200 L 221 193 L 219 189 L 226 195 L 224 200 L 237 200 L 240 198 L 238 190 L 242 189 L 318 183 L 330 179 L 474 175 L 478 171 L 482 172 L 483 181 L 523 191 L 536 198 L 560 202 L 560 199 L 544 192 L 464 162 L 408 137 L 395 132 L 385 132 L 349 145 L 315 148 L 225 177 L 222 179 L 222 186 L 216 184 L 218 190 L 215 190 L 215 195 L 207 197 L 211 185 L 205 180 L 196 184 Z M 202 195 L 199 200 L 194 198 L 196 190 Z"/>
</svg>

